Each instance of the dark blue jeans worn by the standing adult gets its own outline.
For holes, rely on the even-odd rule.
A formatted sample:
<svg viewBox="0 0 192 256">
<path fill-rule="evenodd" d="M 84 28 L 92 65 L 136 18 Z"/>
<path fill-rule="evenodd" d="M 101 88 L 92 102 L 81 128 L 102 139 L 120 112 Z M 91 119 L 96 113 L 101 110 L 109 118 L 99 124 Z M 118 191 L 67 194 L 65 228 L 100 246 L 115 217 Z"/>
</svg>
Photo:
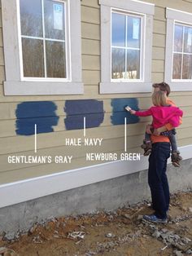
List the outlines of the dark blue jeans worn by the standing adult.
<svg viewBox="0 0 192 256">
<path fill-rule="evenodd" d="M 167 161 L 170 157 L 170 143 L 153 143 L 149 157 L 148 183 L 155 215 L 166 218 L 169 205 L 169 188 L 166 174 Z"/>
</svg>

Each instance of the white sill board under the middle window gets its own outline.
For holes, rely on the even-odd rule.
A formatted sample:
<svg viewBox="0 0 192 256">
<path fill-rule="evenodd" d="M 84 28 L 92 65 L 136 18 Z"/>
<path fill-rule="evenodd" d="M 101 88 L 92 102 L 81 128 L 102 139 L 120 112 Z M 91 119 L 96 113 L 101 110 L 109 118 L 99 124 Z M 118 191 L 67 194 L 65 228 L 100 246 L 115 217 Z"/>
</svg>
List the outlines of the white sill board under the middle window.
<svg viewBox="0 0 192 256">
<path fill-rule="evenodd" d="M 101 82 L 100 94 L 151 92 L 151 82 Z"/>
</svg>

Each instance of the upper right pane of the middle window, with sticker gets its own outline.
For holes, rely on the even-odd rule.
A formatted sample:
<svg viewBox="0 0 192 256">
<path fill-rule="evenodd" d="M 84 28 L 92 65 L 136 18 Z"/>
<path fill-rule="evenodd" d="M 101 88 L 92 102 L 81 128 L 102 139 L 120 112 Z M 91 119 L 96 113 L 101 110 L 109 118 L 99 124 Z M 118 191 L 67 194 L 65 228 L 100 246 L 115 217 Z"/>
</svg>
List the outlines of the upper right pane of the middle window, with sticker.
<svg viewBox="0 0 192 256">
<path fill-rule="evenodd" d="M 127 30 L 128 47 L 140 48 L 141 19 L 133 16 L 128 16 Z"/>
</svg>

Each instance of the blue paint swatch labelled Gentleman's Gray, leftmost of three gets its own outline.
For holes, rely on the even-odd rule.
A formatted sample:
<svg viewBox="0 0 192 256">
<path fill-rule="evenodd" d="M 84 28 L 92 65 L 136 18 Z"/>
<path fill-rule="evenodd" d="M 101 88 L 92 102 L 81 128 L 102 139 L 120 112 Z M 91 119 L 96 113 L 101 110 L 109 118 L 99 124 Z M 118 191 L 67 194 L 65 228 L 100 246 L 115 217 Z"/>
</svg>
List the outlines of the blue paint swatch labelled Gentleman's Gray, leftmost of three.
<svg viewBox="0 0 192 256">
<path fill-rule="evenodd" d="M 17 105 L 16 134 L 34 135 L 34 126 L 37 124 L 37 134 L 54 131 L 59 117 L 56 116 L 57 106 L 52 101 L 23 102 Z"/>
</svg>

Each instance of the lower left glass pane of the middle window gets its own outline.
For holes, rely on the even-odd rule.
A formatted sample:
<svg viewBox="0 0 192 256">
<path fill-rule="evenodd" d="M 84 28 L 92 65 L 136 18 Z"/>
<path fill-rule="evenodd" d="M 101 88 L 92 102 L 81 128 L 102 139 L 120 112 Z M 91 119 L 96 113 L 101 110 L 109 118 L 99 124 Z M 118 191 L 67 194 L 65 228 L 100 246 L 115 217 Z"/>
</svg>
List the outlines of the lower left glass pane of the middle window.
<svg viewBox="0 0 192 256">
<path fill-rule="evenodd" d="M 124 49 L 112 49 L 112 79 L 124 78 L 125 73 L 125 51 Z"/>
</svg>

